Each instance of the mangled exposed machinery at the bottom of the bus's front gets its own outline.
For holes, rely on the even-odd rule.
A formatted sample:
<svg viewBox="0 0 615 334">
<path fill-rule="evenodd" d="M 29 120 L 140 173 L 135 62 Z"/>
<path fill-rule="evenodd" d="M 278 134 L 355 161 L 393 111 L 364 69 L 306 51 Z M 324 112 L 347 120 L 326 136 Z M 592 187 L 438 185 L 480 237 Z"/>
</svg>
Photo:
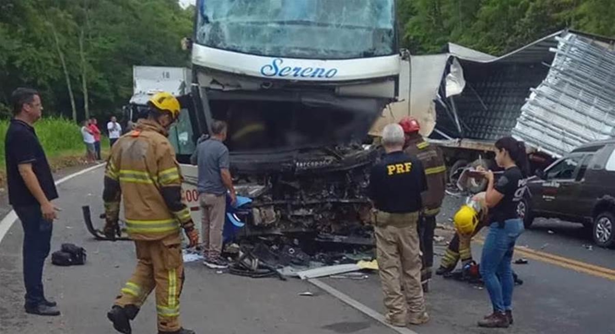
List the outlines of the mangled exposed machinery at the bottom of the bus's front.
<svg viewBox="0 0 615 334">
<path fill-rule="evenodd" d="M 296 155 L 289 170 L 236 174 L 237 194 L 252 199 L 238 214 L 246 225 L 237 236 L 312 232 L 371 240 L 367 185 L 378 152 L 360 145 L 328 150 L 335 153 Z"/>
</svg>

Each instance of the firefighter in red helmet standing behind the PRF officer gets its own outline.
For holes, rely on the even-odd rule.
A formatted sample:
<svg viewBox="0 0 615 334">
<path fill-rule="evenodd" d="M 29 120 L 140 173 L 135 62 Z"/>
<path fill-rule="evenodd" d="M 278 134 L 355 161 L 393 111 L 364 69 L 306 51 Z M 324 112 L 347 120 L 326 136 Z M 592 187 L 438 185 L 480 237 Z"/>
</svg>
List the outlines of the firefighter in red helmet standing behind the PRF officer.
<svg viewBox="0 0 615 334">
<path fill-rule="evenodd" d="M 423 193 L 423 221 L 422 226 L 419 226 L 421 251 L 423 251 L 421 280 L 425 281 L 431 278 L 432 266 L 434 266 L 435 217 L 440 213 L 440 206 L 442 206 L 444 200 L 446 166 L 442 151 L 438 147 L 430 145 L 419 134 L 421 126 L 415 118 L 404 117 L 399 125 L 402 126 L 406 138 L 404 152 L 421 160 L 427 177 L 428 190 Z"/>
</svg>

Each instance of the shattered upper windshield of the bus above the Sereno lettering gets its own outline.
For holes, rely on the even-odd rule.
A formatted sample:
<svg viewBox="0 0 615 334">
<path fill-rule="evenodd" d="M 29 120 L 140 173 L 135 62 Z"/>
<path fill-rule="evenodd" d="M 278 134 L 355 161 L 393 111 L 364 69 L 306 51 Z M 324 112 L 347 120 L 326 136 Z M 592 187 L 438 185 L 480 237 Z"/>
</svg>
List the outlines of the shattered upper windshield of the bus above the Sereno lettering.
<svg viewBox="0 0 615 334">
<path fill-rule="evenodd" d="M 198 44 L 263 56 L 395 53 L 394 0 L 200 0 Z"/>
</svg>

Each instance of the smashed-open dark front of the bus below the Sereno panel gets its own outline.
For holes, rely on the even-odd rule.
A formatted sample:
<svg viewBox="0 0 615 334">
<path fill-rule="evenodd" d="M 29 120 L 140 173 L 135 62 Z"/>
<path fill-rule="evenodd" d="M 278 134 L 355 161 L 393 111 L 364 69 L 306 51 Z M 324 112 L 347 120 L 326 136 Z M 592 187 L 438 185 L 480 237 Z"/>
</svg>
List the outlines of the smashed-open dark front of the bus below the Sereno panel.
<svg viewBox="0 0 615 334">
<path fill-rule="evenodd" d="M 226 120 L 241 235 L 315 232 L 371 238 L 367 185 L 378 150 L 360 144 L 384 101 L 318 93 L 211 94 Z"/>
</svg>

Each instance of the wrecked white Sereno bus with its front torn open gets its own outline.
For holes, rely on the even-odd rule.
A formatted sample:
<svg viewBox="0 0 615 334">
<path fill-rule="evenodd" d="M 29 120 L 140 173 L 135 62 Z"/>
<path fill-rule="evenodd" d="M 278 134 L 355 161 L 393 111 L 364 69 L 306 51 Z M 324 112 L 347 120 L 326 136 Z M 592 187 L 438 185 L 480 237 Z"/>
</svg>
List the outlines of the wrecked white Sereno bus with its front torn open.
<svg viewBox="0 0 615 334">
<path fill-rule="evenodd" d="M 371 239 L 365 188 L 378 151 L 364 144 L 399 91 L 394 0 L 207 0 L 196 9 L 191 132 L 178 134 L 190 140 L 178 144 L 192 148 L 212 120 L 228 122 L 231 174 L 249 199 L 229 216 L 240 233 Z M 182 171 L 198 221 L 197 168 Z"/>
</svg>

